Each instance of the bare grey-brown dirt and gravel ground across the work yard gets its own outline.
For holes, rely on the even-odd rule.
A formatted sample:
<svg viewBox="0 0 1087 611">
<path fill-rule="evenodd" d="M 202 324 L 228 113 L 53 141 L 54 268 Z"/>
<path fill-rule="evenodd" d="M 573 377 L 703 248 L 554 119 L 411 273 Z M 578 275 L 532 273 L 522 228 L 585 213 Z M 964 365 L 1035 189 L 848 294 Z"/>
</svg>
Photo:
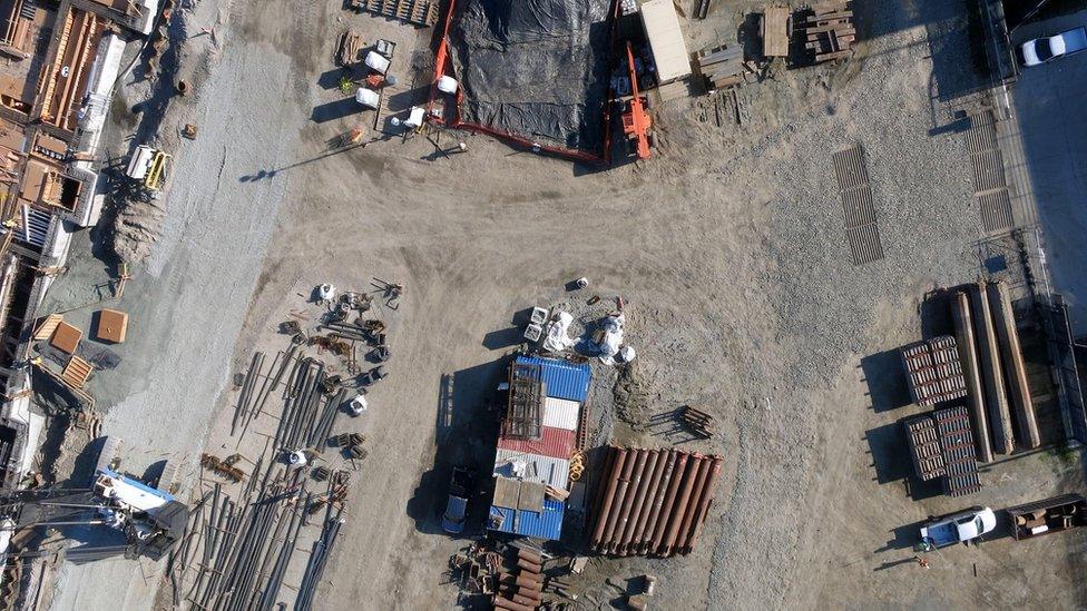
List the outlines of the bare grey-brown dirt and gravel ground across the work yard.
<svg viewBox="0 0 1087 611">
<path fill-rule="evenodd" d="M 946 129 L 985 96 L 966 0 L 862 4 L 868 40 L 852 62 L 772 69 L 732 102 L 740 124 L 729 115 L 718 125 L 711 98 L 664 104 L 655 158 L 608 171 L 461 134 L 442 142 L 463 140 L 467 154 L 371 132 L 379 139 L 366 147 L 329 155 L 327 142 L 361 119 L 335 118 L 335 33 L 394 38 L 393 70 L 410 73 L 421 61 L 411 49 L 430 32 L 339 2 L 306 4 L 306 27 L 280 18 L 298 10 L 282 0 L 202 8 L 218 22 L 219 50 L 189 115 L 168 116 L 198 117 L 202 136 L 177 154 L 161 229 L 136 236 L 150 253 L 139 269 L 157 280 L 140 324 L 172 347 L 131 348 L 128 361 L 150 373 L 131 391 L 139 402 L 107 407 L 105 432 L 146 431 L 195 461 L 197 440 L 232 410 L 228 377 L 276 342 L 313 286 L 404 284 L 391 375 L 359 421 L 373 444 L 317 607 L 450 608 L 457 592 L 443 572 L 466 541 L 439 533 L 443 477 L 452 462 L 486 453 L 464 414 L 486 408 L 496 362 L 517 342 L 515 315 L 621 295 L 643 416 L 682 404 L 713 413 L 718 434 L 683 446 L 723 455 L 725 469 L 692 555 L 593 561 L 582 587 L 600 604 L 616 595 L 606 576 L 645 572 L 662 579 L 659 609 L 1083 603 L 1080 532 L 943 550 L 928 571 L 912 562 L 912 529 L 927 515 L 1081 489 L 1083 471 L 1078 451 L 1046 450 L 988 467 L 986 489 L 960 500 L 908 477 L 894 423 L 920 410 L 902 401 L 891 351 L 933 328 L 930 290 L 987 275 L 966 142 Z M 733 37 L 747 9 L 714 3 L 691 26 L 691 48 Z M 887 253 L 859 267 L 831 161 L 854 144 L 866 150 Z M 579 276 L 591 287 L 566 293 Z M 217 323 L 202 327 L 208 319 Z M 193 328 L 215 337 L 212 349 L 186 339 Z M 180 377 L 160 378 L 166 366 Z M 616 418 L 616 374 L 598 363 L 594 374 L 596 443 L 677 441 Z M 441 420 L 447 375 L 451 425 Z M 1051 392 L 1044 382 L 1032 390 Z M 184 437 L 149 426 L 139 407 L 164 405 Z M 212 427 L 212 438 L 221 433 Z M 105 600 L 116 587 L 89 572 L 67 579 L 59 601 L 91 591 Z M 130 585 L 123 605 L 146 608 L 145 588 Z"/>
</svg>

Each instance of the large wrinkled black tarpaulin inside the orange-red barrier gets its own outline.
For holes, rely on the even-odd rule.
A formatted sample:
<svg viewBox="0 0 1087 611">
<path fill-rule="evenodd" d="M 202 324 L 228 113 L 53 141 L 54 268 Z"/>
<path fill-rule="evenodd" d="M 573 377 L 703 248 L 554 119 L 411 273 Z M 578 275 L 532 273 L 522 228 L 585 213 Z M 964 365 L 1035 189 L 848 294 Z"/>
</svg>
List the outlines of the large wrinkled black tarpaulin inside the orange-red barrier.
<svg viewBox="0 0 1087 611">
<path fill-rule="evenodd" d="M 609 0 L 460 0 L 449 31 L 462 121 L 599 152 Z"/>
</svg>

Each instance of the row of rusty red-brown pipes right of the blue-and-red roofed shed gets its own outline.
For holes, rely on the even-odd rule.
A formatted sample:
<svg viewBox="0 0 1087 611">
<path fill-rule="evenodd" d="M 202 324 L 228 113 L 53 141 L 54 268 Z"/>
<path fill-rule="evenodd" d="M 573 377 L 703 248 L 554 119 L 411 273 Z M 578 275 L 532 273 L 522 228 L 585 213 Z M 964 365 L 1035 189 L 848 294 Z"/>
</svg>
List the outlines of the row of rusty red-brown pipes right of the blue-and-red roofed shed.
<svg viewBox="0 0 1087 611">
<path fill-rule="evenodd" d="M 721 456 L 611 446 L 594 500 L 589 549 L 609 555 L 686 554 L 709 513 Z"/>
</svg>

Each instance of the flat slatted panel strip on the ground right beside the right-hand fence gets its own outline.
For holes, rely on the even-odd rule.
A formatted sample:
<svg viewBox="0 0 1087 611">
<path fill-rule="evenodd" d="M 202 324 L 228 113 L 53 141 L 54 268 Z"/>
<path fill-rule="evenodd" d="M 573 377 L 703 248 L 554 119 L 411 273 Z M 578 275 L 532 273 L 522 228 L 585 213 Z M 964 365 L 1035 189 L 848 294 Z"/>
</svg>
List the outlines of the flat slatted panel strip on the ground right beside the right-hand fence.
<svg viewBox="0 0 1087 611">
<path fill-rule="evenodd" d="M 987 110 L 970 117 L 970 124 L 971 128 L 966 131 L 966 145 L 970 154 L 973 199 L 981 215 L 981 225 L 987 234 L 1010 229 L 1015 226 L 1015 218 L 996 119 Z"/>
</svg>

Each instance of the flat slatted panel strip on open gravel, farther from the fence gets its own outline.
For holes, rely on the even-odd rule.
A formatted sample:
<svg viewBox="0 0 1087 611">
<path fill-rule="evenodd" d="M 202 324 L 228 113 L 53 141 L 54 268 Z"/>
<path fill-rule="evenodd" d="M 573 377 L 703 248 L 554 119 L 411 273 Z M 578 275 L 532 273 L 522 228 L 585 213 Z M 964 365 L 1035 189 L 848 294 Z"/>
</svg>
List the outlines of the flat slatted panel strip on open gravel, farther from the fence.
<svg viewBox="0 0 1087 611">
<path fill-rule="evenodd" d="M 834 154 L 834 175 L 842 198 L 845 240 L 853 265 L 864 265 L 883 258 L 883 245 L 875 223 L 875 204 L 869 185 L 864 148 L 860 145 Z"/>
</svg>

